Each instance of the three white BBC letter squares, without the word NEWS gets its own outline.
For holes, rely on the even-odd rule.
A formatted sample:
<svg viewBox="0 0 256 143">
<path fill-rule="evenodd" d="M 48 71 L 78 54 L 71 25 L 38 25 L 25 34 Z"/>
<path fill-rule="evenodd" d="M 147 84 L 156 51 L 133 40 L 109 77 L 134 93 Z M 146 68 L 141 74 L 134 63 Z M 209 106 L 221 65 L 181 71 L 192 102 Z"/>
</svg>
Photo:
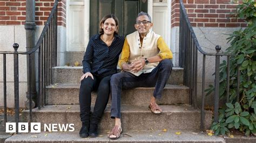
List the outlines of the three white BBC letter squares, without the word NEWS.
<svg viewBox="0 0 256 143">
<path fill-rule="evenodd" d="M 5 127 L 6 133 L 15 133 L 16 132 L 16 123 L 6 123 Z M 29 123 L 18 123 L 18 132 L 19 133 L 28 133 L 29 132 Z M 40 133 L 41 132 L 41 123 L 31 123 L 30 124 L 31 133 Z"/>
</svg>

